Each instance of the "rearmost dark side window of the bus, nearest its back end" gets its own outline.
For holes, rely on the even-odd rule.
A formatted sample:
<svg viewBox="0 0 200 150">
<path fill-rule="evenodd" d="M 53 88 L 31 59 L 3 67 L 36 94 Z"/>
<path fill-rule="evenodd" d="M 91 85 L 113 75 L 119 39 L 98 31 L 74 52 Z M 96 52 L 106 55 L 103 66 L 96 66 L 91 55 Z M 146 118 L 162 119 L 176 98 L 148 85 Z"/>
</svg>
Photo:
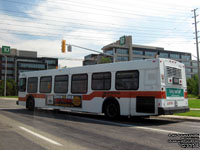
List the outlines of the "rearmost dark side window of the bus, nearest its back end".
<svg viewBox="0 0 200 150">
<path fill-rule="evenodd" d="M 118 71 L 115 88 L 117 90 L 137 90 L 139 88 L 139 72 L 137 70 Z"/>
</svg>

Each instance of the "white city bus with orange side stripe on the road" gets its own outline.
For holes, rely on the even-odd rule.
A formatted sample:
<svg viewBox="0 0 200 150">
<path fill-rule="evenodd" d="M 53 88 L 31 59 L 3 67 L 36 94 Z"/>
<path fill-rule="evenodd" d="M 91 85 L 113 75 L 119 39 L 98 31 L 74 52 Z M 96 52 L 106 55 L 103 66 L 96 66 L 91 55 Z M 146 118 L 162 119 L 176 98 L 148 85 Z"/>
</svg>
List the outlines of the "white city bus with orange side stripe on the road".
<svg viewBox="0 0 200 150">
<path fill-rule="evenodd" d="M 189 111 L 184 64 L 155 58 L 23 72 L 18 105 L 119 116 Z"/>
</svg>

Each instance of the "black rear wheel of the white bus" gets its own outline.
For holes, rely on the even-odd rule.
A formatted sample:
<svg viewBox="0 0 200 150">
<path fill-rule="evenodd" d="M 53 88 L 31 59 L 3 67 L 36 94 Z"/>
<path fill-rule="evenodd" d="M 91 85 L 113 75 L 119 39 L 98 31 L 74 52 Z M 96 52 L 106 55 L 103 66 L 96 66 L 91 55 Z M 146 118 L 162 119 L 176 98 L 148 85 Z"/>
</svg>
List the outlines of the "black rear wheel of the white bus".
<svg viewBox="0 0 200 150">
<path fill-rule="evenodd" d="M 108 119 L 117 119 L 119 117 L 119 106 L 117 103 L 106 103 L 104 113 Z"/>
</svg>

